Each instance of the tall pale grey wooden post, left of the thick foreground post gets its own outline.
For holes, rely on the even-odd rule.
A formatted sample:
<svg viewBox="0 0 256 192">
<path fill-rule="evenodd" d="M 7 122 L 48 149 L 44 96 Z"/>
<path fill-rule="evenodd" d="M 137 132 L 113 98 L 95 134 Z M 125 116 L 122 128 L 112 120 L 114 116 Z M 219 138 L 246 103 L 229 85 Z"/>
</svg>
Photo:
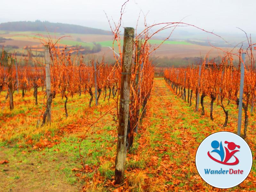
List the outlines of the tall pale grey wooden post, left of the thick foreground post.
<svg viewBox="0 0 256 192">
<path fill-rule="evenodd" d="M 51 93 L 51 68 L 50 68 L 50 49 L 49 45 L 45 46 L 45 81 L 46 81 L 46 95 L 47 100 L 49 99 L 49 95 Z M 49 106 L 49 112 L 47 112 L 47 123 L 52 122 L 52 108 L 51 108 L 51 102 Z M 48 102 L 47 102 L 48 104 Z"/>
</svg>

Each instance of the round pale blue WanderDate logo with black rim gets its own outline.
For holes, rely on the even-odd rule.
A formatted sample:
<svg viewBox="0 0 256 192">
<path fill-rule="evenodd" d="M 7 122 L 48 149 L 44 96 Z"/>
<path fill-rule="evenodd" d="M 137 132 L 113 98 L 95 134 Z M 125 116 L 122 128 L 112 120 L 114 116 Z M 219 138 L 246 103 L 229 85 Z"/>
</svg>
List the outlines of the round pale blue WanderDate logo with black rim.
<svg viewBox="0 0 256 192">
<path fill-rule="evenodd" d="M 196 169 L 209 185 L 232 188 L 249 175 L 252 169 L 252 151 L 239 135 L 216 132 L 199 145 L 196 151 Z"/>
</svg>

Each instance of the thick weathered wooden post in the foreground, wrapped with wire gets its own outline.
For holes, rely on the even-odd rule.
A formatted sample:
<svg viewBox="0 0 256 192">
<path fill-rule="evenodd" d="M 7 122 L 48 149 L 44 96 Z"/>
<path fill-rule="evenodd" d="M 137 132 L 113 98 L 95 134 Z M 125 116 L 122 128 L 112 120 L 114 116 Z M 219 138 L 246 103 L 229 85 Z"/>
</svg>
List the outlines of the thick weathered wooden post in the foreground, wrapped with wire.
<svg viewBox="0 0 256 192">
<path fill-rule="evenodd" d="M 124 181 L 124 164 L 126 157 L 126 135 L 129 117 L 130 83 L 132 72 L 132 49 L 134 28 L 124 28 L 124 45 L 122 56 L 122 73 L 120 84 L 119 125 L 116 150 L 115 180 L 116 184 Z"/>
</svg>

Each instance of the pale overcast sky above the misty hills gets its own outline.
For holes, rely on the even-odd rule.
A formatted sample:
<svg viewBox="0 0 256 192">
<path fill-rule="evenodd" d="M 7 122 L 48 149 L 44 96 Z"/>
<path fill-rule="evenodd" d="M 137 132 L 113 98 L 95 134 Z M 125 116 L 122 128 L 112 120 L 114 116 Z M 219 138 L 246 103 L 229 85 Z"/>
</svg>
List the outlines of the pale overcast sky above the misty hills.
<svg viewBox="0 0 256 192">
<path fill-rule="evenodd" d="M 120 18 L 124 0 L 8 0 L 1 1 L 0 23 L 48 20 L 110 30 L 108 17 Z M 130 0 L 123 15 L 124 27 L 143 28 L 147 23 L 182 22 L 213 32 L 256 33 L 256 0 Z M 185 30 L 185 29 L 182 29 Z"/>
</svg>

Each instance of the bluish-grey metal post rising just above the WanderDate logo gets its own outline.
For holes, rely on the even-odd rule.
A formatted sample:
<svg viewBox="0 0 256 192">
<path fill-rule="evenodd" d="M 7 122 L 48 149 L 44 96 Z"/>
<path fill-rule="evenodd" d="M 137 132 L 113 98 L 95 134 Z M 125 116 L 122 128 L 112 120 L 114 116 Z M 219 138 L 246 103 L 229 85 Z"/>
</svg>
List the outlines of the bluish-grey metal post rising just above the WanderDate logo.
<svg viewBox="0 0 256 192">
<path fill-rule="evenodd" d="M 239 93 L 239 107 L 238 107 L 238 122 L 237 122 L 237 135 L 241 136 L 241 122 L 242 122 L 242 110 L 243 110 L 243 93 L 244 93 L 244 64 L 245 53 L 242 53 L 241 63 L 241 78 L 240 78 L 240 93 Z"/>
</svg>

